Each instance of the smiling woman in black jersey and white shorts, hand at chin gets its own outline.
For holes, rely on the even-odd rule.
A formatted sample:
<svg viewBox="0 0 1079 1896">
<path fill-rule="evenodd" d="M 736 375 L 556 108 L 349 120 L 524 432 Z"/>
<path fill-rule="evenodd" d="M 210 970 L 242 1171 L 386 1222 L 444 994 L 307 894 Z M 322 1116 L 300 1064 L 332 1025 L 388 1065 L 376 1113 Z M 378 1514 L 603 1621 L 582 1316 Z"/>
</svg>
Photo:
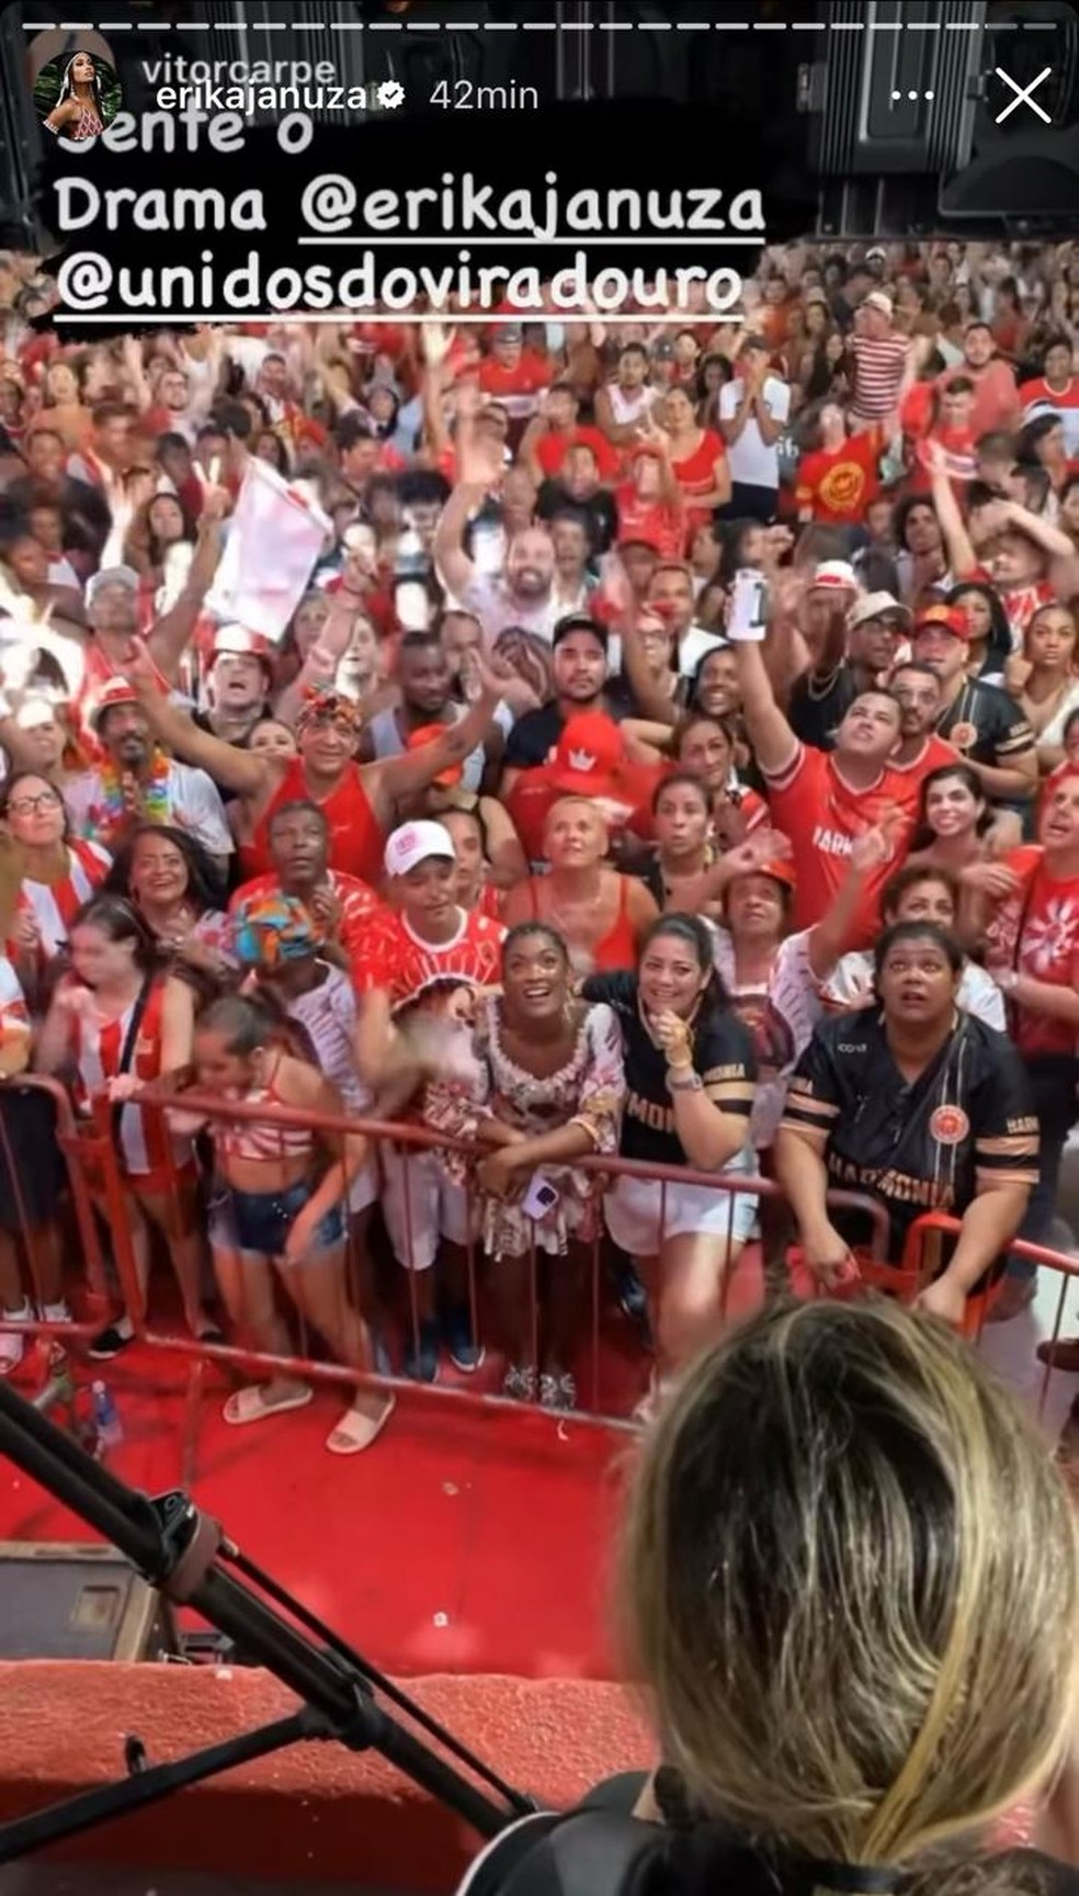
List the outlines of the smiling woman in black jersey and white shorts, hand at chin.
<svg viewBox="0 0 1079 1896">
<path fill-rule="evenodd" d="M 607 1001 L 622 1028 L 622 1158 L 715 1172 L 717 1187 L 753 1174 L 753 1043 L 715 973 L 707 925 L 660 916 L 641 944 L 639 973 L 590 975 L 582 994 Z M 607 1193 L 607 1229 L 652 1306 L 658 1371 L 639 1418 L 717 1337 L 736 1291 L 741 1299 L 734 1267 L 757 1225 L 757 1198 L 717 1187 L 620 1177 Z"/>
</svg>

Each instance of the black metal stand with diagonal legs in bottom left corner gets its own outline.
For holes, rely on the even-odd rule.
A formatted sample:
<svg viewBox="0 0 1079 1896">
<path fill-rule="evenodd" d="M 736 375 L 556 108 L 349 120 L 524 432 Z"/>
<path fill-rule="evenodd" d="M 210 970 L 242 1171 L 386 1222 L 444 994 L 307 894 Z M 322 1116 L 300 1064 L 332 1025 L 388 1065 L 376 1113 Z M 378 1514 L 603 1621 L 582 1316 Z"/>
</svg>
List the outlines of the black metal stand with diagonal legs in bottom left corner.
<svg viewBox="0 0 1079 1896">
<path fill-rule="evenodd" d="M 127 1811 L 140 1811 L 174 1790 L 199 1784 L 220 1771 L 231 1771 L 233 1765 L 265 1758 L 303 1739 L 334 1739 L 353 1752 L 379 1752 L 484 1839 L 497 1837 L 508 1824 L 539 1809 L 535 1799 L 504 1784 L 423 1706 L 322 1627 L 300 1600 L 292 1600 L 275 1581 L 264 1577 L 226 1540 L 220 1524 L 199 1513 L 182 1488 L 154 1500 L 129 1488 L 2 1380 L 0 1452 L 97 1528 L 157 1593 L 176 1606 L 195 1608 L 300 1699 L 300 1708 L 290 1716 L 192 1752 L 169 1765 L 146 1765 L 142 1746 L 137 1739 L 129 1739 L 127 1778 L 0 1824 L 0 1864 L 63 1837 L 74 1837 Z M 290 1625 L 245 1579 L 226 1572 L 226 1562 L 256 1579 L 300 1625 Z M 320 1644 L 307 1638 L 302 1627 L 315 1632 Z M 465 1763 L 472 1777 L 495 1792 L 497 1801 L 440 1758 L 415 1731 L 375 1705 L 375 1687 L 393 1699 L 413 1725 L 425 1729 Z"/>
</svg>

